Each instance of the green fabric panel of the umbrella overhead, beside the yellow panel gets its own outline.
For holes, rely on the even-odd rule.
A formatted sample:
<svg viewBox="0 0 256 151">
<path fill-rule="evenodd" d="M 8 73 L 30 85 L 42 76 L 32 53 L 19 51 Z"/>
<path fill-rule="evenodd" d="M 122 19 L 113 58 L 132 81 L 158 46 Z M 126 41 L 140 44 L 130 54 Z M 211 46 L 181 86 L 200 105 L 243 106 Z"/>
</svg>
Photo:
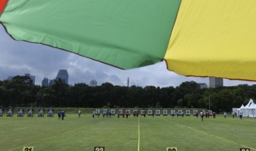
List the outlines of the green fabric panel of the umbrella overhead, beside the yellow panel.
<svg viewBox="0 0 256 151">
<path fill-rule="evenodd" d="M 130 69 L 164 58 L 180 2 L 9 0 L 0 22 L 16 40 Z"/>
</svg>

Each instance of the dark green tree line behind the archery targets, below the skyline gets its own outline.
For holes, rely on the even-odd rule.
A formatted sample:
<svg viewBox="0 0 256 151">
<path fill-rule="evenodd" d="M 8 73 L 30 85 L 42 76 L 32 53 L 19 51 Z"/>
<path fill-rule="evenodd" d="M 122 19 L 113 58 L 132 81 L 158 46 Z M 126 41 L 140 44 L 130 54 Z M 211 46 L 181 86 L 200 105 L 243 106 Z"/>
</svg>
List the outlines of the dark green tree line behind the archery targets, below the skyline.
<svg viewBox="0 0 256 151">
<path fill-rule="evenodd" d="M 90 107 L 90 108 L 206 108 L 231 111 L 247 104 L 256 94 L 256 85 L 204 88 L 191 81 L 174 88 L 116 86 L 104 83 L 68 85 L 56 80 L 51 86 L 34 85 L 26 76 L 0 80 L 1 107 Z"/>
</svg>

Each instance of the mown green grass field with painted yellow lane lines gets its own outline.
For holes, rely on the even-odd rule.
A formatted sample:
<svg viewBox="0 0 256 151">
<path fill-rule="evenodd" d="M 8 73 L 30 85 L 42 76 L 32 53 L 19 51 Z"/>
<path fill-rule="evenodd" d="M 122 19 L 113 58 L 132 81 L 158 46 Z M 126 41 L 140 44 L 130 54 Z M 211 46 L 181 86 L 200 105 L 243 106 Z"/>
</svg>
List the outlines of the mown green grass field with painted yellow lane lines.
<svg viewBox="0 0 256 151">
<path fill-rule="evenodd" d="M 55 117 L 0 117 L 0 150 L 256 150 L 256 119 L 130 115 L 128 118 L 68 114 Z"/>
</svg>

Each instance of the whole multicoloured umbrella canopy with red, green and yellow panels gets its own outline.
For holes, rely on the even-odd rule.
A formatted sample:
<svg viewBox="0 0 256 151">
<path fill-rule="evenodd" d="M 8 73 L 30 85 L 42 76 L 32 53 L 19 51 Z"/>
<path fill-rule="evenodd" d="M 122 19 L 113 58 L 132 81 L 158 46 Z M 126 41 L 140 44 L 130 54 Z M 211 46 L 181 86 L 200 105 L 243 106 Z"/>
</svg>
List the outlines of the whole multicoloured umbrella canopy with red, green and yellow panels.
<svg viewBox="0 0 256 151">
<path fill-rule="evenodd" d="M 129 69 L 165 60 L 182 75 L 256 80 L 254 0 L 5 0 L 16 40 Z"/>
</svg>

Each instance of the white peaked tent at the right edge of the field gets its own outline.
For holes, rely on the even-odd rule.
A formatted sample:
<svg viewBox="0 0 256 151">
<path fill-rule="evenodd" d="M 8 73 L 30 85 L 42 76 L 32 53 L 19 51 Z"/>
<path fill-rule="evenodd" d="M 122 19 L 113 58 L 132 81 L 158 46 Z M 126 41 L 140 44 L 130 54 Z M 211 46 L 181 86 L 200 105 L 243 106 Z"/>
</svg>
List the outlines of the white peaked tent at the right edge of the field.
<svg viewBox="0 0 256 151">
<path fill-rule="evenodd" d="M 243 117 L 256 117 L 256 104 L 253 102 L 252 99 L 248 102 L 246 106 L 241 106 L 241 108 L 238 109 L 238 112 L 243 113 Z"/>
</svg>

